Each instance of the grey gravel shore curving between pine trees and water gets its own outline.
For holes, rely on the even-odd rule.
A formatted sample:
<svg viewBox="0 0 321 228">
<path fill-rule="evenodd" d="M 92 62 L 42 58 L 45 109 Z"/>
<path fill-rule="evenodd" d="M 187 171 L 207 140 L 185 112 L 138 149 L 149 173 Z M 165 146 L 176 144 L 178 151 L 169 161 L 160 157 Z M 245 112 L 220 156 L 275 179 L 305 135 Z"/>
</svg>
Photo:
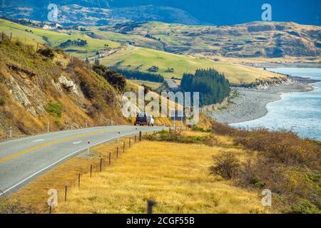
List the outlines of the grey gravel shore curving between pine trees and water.
<svg viewBox="0 0 321 228">
<path fill-rule="evenodd" d="M 240 93 L 238 98 L 232 100 L 232 103 L 226 108 L 207 113 L 220 123 L 241 123 L 249 120 L 261 118 L 267 114 L 267 103 L 280 100 L 281 93 L 303 92 L 313 90 L 309 85 L 280 85 L 271 86 L 265 89 L 245 89 L 237 88 Z"/>
</svg>

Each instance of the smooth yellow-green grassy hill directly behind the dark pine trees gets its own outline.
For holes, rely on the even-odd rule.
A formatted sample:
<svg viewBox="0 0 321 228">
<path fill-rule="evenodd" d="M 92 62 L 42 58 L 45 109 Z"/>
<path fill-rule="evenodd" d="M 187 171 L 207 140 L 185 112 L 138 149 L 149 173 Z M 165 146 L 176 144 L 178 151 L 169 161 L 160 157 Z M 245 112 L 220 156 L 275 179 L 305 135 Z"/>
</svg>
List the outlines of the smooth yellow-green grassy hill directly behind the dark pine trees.
<svg viewBox="0 0 321 228">
<path fill-rule="evenodd" d="M 159 71 L 157 73 L 165 78 L 182 78 L 183 73 L 195 73 L 199 68 L 215 68 L 215 70 L 224 73 L 230 83 L 253 83 L 256 79 L 269 80 L 274 77 L 280 77 L 276 73 L 257 68 L 214 62 L 206 58 L 179 56 L 148 48 L 132 48 L 118 51 L 112 56 L 101 59 L 101 63 L 107 66 L 117 66 L 126 70 L 138 71 L 148 71 L 152 66 L 158 66 Z M 174 72 L 166 72 L 168 68 L 174 68 Z"/>
</svg>

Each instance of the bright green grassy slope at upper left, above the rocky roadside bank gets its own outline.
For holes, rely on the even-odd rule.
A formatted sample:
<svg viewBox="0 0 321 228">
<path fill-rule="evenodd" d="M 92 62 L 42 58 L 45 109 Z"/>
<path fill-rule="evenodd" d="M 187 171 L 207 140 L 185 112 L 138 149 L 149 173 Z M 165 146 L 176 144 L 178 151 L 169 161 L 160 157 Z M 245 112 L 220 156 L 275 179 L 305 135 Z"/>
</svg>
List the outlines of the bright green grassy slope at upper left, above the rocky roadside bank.
<svg viewBox="0 0 321 228">
<path fill-rule="evenodd" d="M 23 26 L 0 19 L 0 32 L 4 31 L 8 36 L 12 33 L 13 39 L 19 39 L 20 41 L 27 40 L 27 43 L 46 43 L 49 46 L 57 48 L 61 43 L 68 40 L 77 40 L 78 38 L 86 40 L 88 43 L 86 46 L 68 46 L 65 48 L 75 56 L 86 57 L 95 55 L 96 51 L 101 51 L 106 48 L 105 44 L 108 44 L 110 48 L 117 48 L 119 43 L 113 41 L 105 41 L 101 39 L 91 38 L 84 33 L 73 31 L 71 35 L 67 33 L 58 33 L 56 31 L 31 28 L 29 26 Z M 30 32 L 32 31 L 32 32 Z M 73 50 L 73 51 L 71 51 Z"/>
</svg>

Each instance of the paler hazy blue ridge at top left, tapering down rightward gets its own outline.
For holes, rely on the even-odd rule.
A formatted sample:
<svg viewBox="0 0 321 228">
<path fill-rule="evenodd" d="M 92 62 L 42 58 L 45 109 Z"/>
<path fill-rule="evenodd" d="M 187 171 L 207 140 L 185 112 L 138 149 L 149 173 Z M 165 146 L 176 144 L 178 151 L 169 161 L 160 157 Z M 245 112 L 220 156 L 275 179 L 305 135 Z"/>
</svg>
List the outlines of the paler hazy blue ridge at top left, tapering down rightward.
<svg viewBox="0 0 321 228">
<path fill-rule="evenodd" d="M 198 25 L 200 21 L 181 9 L 169 6 L 108 7 L 107 1 L 59 1 L 58 23 L 65 25 L 101 26 L 123 21 L 163 21 L 186 25 Z M 65 4 L 66 3 L 66 4 Z M 9 19 L 47 21 L 46 4 L 21 2 L 0 7 L 0 15 Z"/>
</svg>

